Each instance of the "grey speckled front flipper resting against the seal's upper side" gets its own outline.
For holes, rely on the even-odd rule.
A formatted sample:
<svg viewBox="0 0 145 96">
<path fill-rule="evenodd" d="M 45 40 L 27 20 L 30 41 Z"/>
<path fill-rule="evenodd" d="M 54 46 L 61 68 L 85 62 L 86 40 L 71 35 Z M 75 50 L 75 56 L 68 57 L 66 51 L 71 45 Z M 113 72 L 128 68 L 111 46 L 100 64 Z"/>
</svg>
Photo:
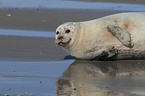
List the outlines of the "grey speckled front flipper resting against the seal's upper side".
<svg viewBox="0 0 145 96">
<path fill-rule="evenodd" d="M 126 47 L 132 48 L 134 46 L 131 34 L 123 27 L 109 25 L 107 29 Z"/>
</svg>

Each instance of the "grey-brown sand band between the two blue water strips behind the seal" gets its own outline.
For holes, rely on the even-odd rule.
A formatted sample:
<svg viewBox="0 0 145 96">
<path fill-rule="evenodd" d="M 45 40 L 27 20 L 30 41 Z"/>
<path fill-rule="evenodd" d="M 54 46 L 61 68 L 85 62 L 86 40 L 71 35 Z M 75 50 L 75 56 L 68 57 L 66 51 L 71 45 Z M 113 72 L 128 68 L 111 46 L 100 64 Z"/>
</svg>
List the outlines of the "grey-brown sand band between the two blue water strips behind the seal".
<svg viewBox="0 0 145 96">
<path fill-rule="evenodd" d="M 24 30 L 55 30 L 65 22 L 78 22 L 124 11 L 85 9 L 1 9 L 0 28 Z M 11 14 L 11 16 L 7 16 Z"/>
</svg>

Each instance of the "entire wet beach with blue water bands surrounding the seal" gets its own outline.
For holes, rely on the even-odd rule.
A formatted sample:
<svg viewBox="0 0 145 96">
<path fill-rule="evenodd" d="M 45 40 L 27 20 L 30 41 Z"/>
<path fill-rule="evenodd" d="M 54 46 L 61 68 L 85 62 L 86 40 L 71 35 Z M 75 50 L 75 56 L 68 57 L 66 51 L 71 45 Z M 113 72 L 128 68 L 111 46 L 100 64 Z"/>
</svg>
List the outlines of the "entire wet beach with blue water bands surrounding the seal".
<svg viewBox="0 0 145 96">
<path fill-rule="evenodd" d="M 69 54 L 54 37 L 57 26 L 65 22 L 145 12 L 143 0 L 10 2 L 0 1 L 0 96 L 62 96 L 63 86 L 74 82 L 82 86 L 69 88 L 76 96 L 145 96 L 144 60 L 64 60 Z"/>
</svg>

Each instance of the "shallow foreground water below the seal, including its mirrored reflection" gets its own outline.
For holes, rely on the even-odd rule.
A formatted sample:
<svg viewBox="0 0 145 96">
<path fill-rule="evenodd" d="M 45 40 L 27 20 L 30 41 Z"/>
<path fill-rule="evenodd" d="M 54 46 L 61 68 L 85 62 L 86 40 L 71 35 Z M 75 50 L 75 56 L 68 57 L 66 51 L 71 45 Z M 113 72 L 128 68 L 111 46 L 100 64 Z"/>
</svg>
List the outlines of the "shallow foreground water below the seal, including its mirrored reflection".
<svg viewBox="0 0 145 96">
<path fill-rule="evenodd" d="M 0 62 L 0 96 L 145 96 L 145 61 Z"/>
</svg>

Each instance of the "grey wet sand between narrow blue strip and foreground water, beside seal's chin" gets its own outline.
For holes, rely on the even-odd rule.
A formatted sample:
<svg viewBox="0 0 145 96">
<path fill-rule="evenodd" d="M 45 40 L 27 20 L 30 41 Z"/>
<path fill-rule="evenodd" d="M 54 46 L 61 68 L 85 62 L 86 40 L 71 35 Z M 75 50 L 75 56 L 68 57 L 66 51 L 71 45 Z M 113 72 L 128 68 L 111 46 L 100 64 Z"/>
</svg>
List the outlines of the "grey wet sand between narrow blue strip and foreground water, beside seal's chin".
<svg viewBox="0 0 145 96">
<path fill-rule="evenodd" d="M 0 36 L 0 45 L 1 61 L 54 61 L 67 55 L 54 38 Z"/>
</svg>

